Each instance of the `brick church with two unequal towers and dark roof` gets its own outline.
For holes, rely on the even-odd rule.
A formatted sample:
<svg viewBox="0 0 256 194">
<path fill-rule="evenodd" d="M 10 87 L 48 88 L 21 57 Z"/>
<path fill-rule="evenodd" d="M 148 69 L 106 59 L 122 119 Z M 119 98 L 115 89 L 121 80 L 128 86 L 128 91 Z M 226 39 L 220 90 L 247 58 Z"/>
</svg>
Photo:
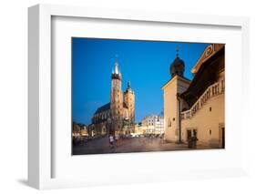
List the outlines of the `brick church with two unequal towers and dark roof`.
<svg viewBox="0 0 256 194">
<path fill-rule="evenodd" d="M 90 135 L 130 134 L 135 129 L 135 93 L 128 82 L 122 91 L 122 75 L 116 59 L 111 74 L 110 102 L 98 107 L 89 125 Z"/>
</svg>

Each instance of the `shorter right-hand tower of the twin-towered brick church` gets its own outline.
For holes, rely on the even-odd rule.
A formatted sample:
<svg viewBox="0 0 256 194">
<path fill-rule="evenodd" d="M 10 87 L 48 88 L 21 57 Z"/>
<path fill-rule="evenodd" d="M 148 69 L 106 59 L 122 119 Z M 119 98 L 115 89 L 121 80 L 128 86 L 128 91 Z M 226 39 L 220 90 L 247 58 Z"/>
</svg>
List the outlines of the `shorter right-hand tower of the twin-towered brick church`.
<svg viewBox="0 0 256 194">
<path fill-rule="evenodd" d="M 124 102 L 128 107 L 128 120 L 131 124 L 135 121 L 135 94 L 131 89 L 130 82 L 128 81 L 128 88 L 124 93 Z"/>
</svg>

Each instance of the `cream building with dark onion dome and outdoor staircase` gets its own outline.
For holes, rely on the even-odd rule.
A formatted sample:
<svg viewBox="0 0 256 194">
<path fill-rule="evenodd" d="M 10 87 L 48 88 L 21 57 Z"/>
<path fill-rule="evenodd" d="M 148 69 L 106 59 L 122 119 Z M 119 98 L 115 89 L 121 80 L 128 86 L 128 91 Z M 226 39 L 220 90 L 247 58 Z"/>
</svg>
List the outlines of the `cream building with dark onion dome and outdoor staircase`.
<svg viewBox="0 0 256 194">
<path fill-rule="evenodd" d="M 164 92 L 165 139 L 187 143 L 191 137 L 210 148 L 225 147 L 224 45 L 210 44 L 184 77 L 185 63 L 177 56 L 169 67 Z"/>
</svg>

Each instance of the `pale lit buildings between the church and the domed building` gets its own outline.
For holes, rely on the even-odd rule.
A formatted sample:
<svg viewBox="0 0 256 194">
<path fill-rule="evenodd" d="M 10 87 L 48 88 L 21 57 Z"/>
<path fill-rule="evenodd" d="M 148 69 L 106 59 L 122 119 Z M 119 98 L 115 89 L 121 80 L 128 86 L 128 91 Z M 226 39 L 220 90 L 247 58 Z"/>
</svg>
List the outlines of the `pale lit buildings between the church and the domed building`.
<svg viewBox="0 0 256 194">
<path fill-rule="evenodd" d="M 164 117 L 151 115 L 142 119 L 141 128 L 144 134 L 163 134 L 164 133 Z"/>
</svg>

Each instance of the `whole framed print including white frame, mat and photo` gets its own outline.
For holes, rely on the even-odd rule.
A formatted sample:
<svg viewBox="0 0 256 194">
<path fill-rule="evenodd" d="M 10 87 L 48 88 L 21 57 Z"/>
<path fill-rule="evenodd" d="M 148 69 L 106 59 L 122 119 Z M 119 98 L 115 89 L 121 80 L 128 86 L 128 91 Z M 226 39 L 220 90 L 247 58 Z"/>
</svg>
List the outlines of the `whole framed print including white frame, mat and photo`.
<svg viewBox="0 0 256 194">
<path fill-rule="evenodd" d="M 247 18 L 36 5 L 28 36 L 32 187 L 246 175 Z"/>
</svg>

